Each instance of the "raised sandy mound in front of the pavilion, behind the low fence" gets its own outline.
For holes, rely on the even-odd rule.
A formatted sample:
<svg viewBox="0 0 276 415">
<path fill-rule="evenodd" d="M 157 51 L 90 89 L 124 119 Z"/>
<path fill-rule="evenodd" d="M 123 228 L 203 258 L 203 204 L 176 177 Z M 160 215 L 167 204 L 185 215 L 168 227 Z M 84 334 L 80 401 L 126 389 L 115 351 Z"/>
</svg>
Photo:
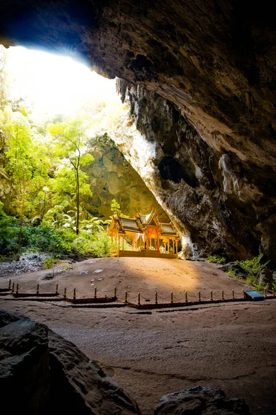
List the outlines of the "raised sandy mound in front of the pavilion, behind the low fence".
<svg viewBox="0 0 276 415">
<path fill-rule="evenodd" d="M 40 270 L 34 273 L 14 275 L 12 281 L 19 283 L 21 291 L 35 292 L 37 283 L 43 291 L 55 291 L 59 284 L 59 292 L 62 294 L 64 286 L 67 288 L 68 297 L 72 297 L 72 291 L 77 289 L 77 297 L 94 296 L 95 287 L 99 297 L 113 295 L 117 287 L 119 299 L 124 300 L 125 292 L 132 302 L 137 302 L 137 293 L 141 293 L 141 302 L 145 299 L 155 301 L 155 292 L 159 295 L 159 302 L 169 302 L 170 293 L 176 299 L 184 299 L 184 291 L 188 291 L 188 299 L 198 298 L 201 291 L 202 299 L 213 297 L 221 298 L 221 290 L 225 297 L 231 297 L 234 290 L 237 296 L 242 297 L 242 289 L 248 288 L 244 282 L 238 282 L 219 270 L 217 264 L 208 264 L 201 261 L 181 261 L 179 259 L 159 258 L 99 258 L 88 259 L 73 264 L 73 269 L 68 269 L 68 262 L 57 264 L 53 270 Z M 63 272 L 60 272 L 63 270 Z M 97 271 L 100 271 L 99 273 Z M 46 275 L 54 278 L 49 281 L 44 279 Z M 8 278 L 0 279 L 0 287 L 8 284 Z"/>
</svg>

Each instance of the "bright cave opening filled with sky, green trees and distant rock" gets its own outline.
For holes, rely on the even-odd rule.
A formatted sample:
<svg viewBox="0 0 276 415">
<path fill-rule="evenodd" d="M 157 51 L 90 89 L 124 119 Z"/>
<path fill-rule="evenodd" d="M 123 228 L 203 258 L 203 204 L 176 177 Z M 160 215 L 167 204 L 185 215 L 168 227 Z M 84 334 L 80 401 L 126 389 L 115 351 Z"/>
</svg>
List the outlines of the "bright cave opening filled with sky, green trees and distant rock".
<svg viewBox="0 0 276 415">
<path fill-rule="evenodd" d="M 70 241 L 70 250 L 96 252 L 91 238 L 106 230 L 114 201 L 126 215 L 157 207 L 167 217 L 115 142 L 128 116 L 115 79 L 72 57 L 21 46 L 0 46 L 0 58 L 0 208 L 19 221 L 18 252 L 30 244 L 27 222 L 52 225 L 62 243 L 75 241 L 73 233 L 86 236 L 88 244 Z"/>
</svg>

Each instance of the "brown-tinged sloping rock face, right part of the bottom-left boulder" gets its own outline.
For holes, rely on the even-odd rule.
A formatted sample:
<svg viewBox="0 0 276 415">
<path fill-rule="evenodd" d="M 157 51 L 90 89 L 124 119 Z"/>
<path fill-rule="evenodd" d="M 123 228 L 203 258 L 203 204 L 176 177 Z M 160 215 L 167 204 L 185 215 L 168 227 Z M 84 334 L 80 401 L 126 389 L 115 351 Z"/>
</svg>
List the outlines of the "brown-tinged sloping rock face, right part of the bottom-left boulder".
<svg viewBox="0 0 276 415">
<path fill-rule="evenodd" d="M 75 344 L 49 331 L 51 398 L 57 412 L 140 414 L 134 400 Z M 58 410 L 59 408 L 59 410 Z M 50 411 L 50 405 L 49 405 Z"/>
</svg>

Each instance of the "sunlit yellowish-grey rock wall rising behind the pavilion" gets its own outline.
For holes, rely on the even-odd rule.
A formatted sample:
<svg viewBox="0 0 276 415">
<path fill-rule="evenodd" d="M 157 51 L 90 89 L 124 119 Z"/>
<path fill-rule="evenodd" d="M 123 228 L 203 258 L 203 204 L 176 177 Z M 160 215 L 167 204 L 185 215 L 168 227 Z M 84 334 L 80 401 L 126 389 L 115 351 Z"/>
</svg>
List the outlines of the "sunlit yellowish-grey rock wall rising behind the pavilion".
<svg viewBox="0 0 276 415">
<path fill-rule="evenodd" d="M 83 207 L 90 214 L 109 219 L 111 201 L 116 199 L 121 211 L 130 217 L 138 210 L 148 214 L 155 208 L 160 221 L 169 221 L 144 181 L 107 134 L 92 138 L 88 151 L 94 157 L 93 163 L 85 167 L 93 194 Z"/>
</svg>

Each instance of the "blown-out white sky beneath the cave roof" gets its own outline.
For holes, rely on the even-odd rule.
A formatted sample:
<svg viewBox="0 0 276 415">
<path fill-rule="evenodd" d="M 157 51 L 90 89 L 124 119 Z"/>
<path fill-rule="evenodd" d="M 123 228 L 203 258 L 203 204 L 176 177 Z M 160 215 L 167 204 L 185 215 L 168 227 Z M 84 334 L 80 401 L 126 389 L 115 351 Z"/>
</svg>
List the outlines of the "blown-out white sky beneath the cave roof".
<svg viewBox="0 0 276 415">
<path fill-rule="evenodd" d="M 74 115 L 86 102 L 118 102 L 115 80 L 108 80 L 71 57 L 8 48 L 11 98 L 32 105 L 32 117 Z"/>
</svg>

